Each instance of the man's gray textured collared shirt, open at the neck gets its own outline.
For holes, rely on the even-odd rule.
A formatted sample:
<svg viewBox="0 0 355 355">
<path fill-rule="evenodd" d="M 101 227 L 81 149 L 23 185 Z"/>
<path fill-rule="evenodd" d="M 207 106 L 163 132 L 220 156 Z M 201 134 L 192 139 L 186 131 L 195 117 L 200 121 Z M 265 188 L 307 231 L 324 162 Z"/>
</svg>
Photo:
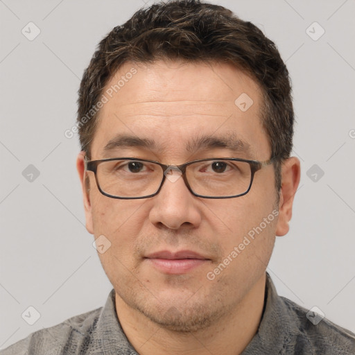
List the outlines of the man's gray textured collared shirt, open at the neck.
<svg viewBox="0 0 355 355">
<path fill-rule="evenodd" d="M 307 310 L 277 295 L 266 273 L 266 304 L 257 334 L 242 355 L 355 354 L 355 334 L 326 318 L 314 325 Z M 309 315 L 310 316 L 310 315 Z M 311 314 L 313 318 L 315 314 Z M 314 322 L 316 323 L 316 322 Z M 226 345 L 227 347 L 227 345 Z M 114 290 L 104 307 L 41 329 L 0 355 L 137 355 L 116 315 Z"/>
</svg>

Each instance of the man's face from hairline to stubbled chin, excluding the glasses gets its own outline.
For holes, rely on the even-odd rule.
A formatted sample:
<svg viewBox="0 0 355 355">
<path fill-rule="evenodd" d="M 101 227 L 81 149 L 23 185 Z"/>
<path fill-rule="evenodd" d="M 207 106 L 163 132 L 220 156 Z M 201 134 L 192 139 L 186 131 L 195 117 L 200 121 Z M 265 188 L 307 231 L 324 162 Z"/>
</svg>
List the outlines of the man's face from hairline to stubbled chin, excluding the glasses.
<svg viewBox="0 0 355 355">
<path fill-rule="evenodd" d="M 135 74 L 127 75 L 132 68 Z M 124 85 L 101 109 L 92 160 L 136 157 L 179 165 L 211 157 L 270 158 L 259 86 L 229 64 L 127 63 L 105 90 L 121 79 Z M 235 103 L 243 93 L 253 102 L 248 110 Z M 116 146 L 118 135 L 150 139 L 154 146 Z M 243 146 L 193 146 L 205 136 Z M 83 182 L 83 153 L 78 170 Z M 265 275 L 275 234 L 286 229 L 280 224 L 286 218 L 277 216 L 272 165 L 255 173 L 249 193 L 227 199 L 193 196 L 178 178 L 166 179 L 152 198 L 119 200 L 103 196 L 94 173 L 86 174 L 87 230 L 111 243 L 98 255 L 116 302 L 168 329 L 207 327 L 240 304 Z"/>
</svg>

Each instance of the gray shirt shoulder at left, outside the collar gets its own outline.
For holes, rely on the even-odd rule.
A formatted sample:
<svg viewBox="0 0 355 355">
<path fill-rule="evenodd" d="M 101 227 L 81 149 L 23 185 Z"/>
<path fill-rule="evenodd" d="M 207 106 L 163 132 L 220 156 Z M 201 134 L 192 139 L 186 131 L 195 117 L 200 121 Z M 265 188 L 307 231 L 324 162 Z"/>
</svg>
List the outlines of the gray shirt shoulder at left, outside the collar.
<svg viewBox="0 0 355 355">
<path fill-rule="evenodd" d="M 53 327 L 35 331 L 10 347 L 0 350 L 0 355 L 72 354 L 68 350 L 73 345 L 78 349 L 89 343 L 102 309 L 103 307 L 75 315 Z"/>
</svg>

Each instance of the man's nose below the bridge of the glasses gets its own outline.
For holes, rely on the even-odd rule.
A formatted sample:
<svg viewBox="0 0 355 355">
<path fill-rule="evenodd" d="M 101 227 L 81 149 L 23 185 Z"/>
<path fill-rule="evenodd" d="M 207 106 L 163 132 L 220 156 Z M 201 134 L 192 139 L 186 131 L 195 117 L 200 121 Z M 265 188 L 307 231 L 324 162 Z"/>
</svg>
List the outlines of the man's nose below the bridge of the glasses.
<svg viewBox="0 0 355 355">
<path fill-rule="evenodd" d="M 162 189 L 152 198 L 150 222 L 156 227 L 164 225 L 172 230 L 198 227 L 201 223 L 200 198 L 193 196 L 187 188 L 182 173 L 171 169 L 166 173 Z"/>
</svg>

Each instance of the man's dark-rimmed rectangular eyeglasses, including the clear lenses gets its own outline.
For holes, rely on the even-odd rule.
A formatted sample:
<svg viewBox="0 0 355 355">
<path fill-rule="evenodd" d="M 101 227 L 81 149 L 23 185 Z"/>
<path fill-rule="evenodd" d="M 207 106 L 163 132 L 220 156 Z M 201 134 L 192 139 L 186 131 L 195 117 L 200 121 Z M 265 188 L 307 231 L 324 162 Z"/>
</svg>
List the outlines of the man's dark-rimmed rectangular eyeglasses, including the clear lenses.
<svg viewBox="0 0 355 355">
<path fill-rule="evenodd" d="M 98 190 L 110 198 L 150 198 L 159 193 L 166 178 L 175 182 L 180 176 L 194 196 L 236 198 L 250 191 L 254 174 L 274 159 L 272 157 L 259 162 L 239 158 L 208 158 L 175 166 L 123 157 L 85 160 L 85 170 L 94 172 Z"/>
</svg>

